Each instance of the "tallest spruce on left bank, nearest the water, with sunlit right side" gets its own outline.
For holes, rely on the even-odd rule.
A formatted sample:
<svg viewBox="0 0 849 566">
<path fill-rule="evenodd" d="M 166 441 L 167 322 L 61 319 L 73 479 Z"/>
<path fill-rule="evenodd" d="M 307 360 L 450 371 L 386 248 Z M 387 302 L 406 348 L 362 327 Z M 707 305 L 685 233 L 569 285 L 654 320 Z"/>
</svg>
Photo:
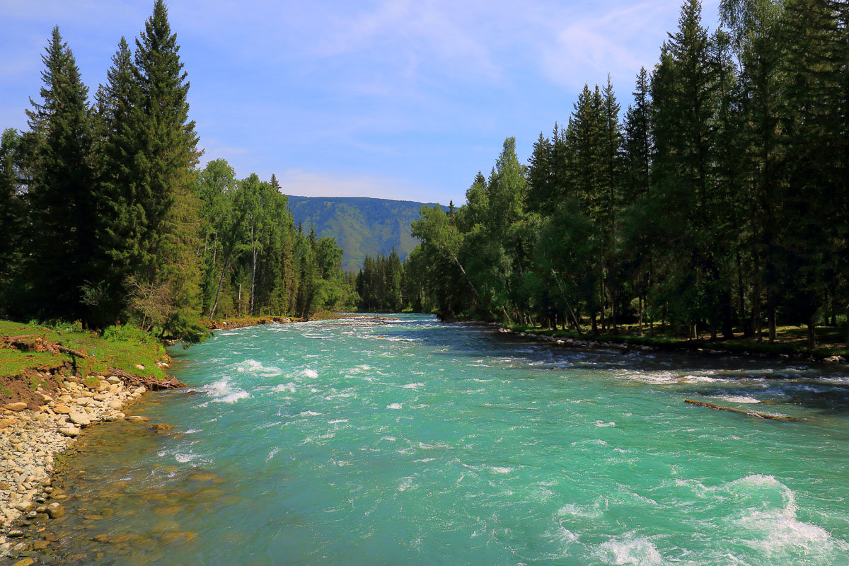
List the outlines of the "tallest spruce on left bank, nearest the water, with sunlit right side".
<svg viewBox="0 0 849 566">
<path fill-rule="evenodd" d="M 140 188 L 143 210 L 143 262 L 139 277 L 166 283 L 171 311 L 163 333 L 195 339 L 200 311 L 200 278 L 195 249 L 200 245 L 194 194 L 194 166 L 200 153 L 194 120 L 188 120 L 187 74 L 179 57 L 177 35 L 171 32 L 163 0 L 136 40 L 134 81 L 138 99 L 128 119 L 135 136 L 133 175 Z"/>
</svg>

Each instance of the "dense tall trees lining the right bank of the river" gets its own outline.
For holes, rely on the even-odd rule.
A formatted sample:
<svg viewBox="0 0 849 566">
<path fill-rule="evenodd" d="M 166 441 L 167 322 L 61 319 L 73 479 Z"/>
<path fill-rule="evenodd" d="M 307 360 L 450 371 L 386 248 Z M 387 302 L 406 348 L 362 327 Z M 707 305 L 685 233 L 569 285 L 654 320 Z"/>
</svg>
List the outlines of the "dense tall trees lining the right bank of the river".
<svg viewBox="0 0 849 566">
<path fill-rule="evenodd" d="M 419 305 L 583 333 L 845 342 L 849 8 L 684 3 L 620 120 L 584 87 L 528 165 L 508 138 L 458 210 L 424 208 L 405 266 Z M 622 330 L 623 325 L 630 328 Z M 842 328 L 842 329 L 841 329 Z"/>
</svg>

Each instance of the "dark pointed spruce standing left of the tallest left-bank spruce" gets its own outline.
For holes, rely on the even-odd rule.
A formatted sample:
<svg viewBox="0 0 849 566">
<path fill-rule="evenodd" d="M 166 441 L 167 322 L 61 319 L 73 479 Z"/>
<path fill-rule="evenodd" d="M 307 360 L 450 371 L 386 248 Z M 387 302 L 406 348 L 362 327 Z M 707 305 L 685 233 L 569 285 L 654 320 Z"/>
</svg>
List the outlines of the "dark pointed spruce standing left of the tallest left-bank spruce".
<svg viewBox="0 0 849 566">
<path fill-rule="evenodd" d="M 31 100 L 29 126 L 37 137 L 29 198 L 33 216 L 33 313 L 87 321 L 83 293 L 98 245 L 93 133 L 87 87 L 59 28 L 42 55 L 42 102 Z"/>
</svg>

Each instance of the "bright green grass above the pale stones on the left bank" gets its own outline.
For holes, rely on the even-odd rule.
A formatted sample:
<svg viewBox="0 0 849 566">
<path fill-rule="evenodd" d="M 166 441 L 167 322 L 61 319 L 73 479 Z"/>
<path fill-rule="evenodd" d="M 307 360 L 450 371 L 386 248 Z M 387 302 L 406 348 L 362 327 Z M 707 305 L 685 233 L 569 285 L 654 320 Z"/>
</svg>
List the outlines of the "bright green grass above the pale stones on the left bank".
<svg viewBox="0 0 849 566">
<path fill-rule="evenodd" d="M 166 359 L 165 347 L 149 334 L 135 327 L 107 328 L 101 336 L 79 326 L 63 324 L 50 327 L 40 324 L 0 321 L 0 336 L 41 336 L 48 342 L 63 345 L 90 358 L 70 354 L 25 352 L 0 348 L 0 375 L 17 376 L 29 369 L 48 370 L 66 362 L 76 363 L 76 373 L 87 377 L 91 373 L 108 373 L 110 367 L 141 377 L 164 379 L 165 373 L 156 365 Z M 75 359 L 76 358 L 76 359 Z M 142 365 L 144 369 L 137 367 Z"/>
</svg>

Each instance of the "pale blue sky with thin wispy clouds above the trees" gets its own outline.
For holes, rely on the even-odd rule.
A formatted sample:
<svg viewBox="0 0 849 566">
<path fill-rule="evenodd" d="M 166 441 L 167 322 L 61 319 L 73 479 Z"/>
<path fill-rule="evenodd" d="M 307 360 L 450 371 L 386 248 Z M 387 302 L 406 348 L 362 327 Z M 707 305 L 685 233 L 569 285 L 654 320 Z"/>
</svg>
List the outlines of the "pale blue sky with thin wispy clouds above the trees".
<svg viewBox="0 0 849 566">
<path fill-rule="evenodd" d="M 714 29 L 718 0 L 704 2 Z M 25 127 L 53 25 L 91 93 L 153 0 L 0 0 L 0 127 Z M 610 73 L 621 105 L 679 0 L 171 0 L 203 160 L 286 193 L 464 202 L 504 137 L 526 160 Z"/>
</svg>

